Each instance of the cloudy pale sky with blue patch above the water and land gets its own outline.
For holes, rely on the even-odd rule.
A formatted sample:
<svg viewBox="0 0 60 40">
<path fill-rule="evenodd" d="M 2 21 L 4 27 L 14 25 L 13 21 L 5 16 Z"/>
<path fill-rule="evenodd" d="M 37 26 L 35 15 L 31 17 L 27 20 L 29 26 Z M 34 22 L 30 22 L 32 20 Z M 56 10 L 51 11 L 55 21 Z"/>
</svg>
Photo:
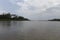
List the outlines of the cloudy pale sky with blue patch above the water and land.
<svg viewBox="0 0 60 40">
<path fill-rule="evenodd" d="M 0 14 L 3 12 L 31 20 L 60 18 L 60 0 L 0 0 Z"/>
</svg>

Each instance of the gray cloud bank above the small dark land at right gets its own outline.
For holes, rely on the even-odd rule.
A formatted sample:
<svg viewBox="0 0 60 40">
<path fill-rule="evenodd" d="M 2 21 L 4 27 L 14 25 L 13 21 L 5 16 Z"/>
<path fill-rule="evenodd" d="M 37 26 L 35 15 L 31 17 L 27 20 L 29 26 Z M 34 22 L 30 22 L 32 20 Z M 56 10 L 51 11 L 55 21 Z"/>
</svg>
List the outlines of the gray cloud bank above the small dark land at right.
<svg viewBox="0 0 60 40">
<path fill-rule="evenodd" d="M 46 20 L 53 18 L 60 18 L 60 5 L 56 5 L 54 7 L 46 9 L 46 11 L 41 12 L 40 14 L 36 14 L 38 20 Z"/>
</svg>

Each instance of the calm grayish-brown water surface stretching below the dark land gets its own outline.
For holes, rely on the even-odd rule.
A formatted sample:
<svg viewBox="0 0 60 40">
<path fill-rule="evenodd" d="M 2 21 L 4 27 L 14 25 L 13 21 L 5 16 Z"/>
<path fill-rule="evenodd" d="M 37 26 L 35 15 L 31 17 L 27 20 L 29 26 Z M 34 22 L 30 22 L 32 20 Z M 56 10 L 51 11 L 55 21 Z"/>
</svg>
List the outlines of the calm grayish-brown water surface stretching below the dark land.
<svg viewBox="0 0 60 40">
<path fill-rule="evenodd" d="M 60 40 L 60 22 L 0 21 L 0 40 Z"/>
</svg>

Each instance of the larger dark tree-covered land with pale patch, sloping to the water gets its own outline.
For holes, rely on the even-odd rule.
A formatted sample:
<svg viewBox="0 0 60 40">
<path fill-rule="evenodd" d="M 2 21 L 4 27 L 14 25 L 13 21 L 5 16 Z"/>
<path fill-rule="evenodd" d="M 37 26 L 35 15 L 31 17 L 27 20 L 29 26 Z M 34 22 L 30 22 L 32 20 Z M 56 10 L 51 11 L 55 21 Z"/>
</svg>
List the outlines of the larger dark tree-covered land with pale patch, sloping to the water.
<svg viewBox="0 0 60 40">
<path fill-rule="evenodd" d="M 29 19 L 17 16 L 16 14 L 3 13 L 0 14 L 0 21 L 29 21 Z"/>
</svg>

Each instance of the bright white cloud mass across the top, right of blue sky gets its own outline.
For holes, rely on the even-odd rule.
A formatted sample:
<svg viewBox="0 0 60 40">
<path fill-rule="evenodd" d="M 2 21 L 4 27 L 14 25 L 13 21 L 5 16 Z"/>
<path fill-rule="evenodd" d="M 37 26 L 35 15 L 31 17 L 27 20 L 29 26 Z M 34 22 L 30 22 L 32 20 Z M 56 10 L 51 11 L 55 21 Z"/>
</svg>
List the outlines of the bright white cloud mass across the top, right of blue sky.
<svg viewBox="0 0 60 40">
<path fill-rule="evenodd" d="M 35 14 L 40 14 L 47 8 L 60 4 L 60 0 L 24 0 L 23 2 L 13 0 L 12 3 L 20 6 L 17 13 L 22 13 L 22 15 L 25 17 L 30 17 Z M 34 10 L 30 10 L 31 6 L 34 8 Z"/>
</svg>

